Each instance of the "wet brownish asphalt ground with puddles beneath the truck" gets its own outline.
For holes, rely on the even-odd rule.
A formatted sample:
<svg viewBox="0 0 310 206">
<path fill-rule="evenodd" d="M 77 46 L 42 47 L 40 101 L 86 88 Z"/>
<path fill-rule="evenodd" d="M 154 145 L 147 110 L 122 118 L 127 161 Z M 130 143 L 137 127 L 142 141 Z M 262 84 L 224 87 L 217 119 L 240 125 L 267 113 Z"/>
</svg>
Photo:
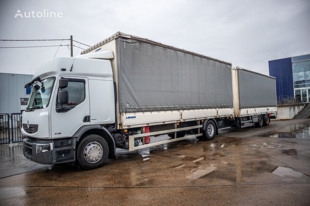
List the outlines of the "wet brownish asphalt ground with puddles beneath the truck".
<svg viewBox="0 0 310 206">
<path fill-rule="evenodd" d="M 309 119 L 277 120 L 221 129 L 212 141 L 118 149 L 117 161 L 91 171 L 39 165 L 21 145 L 2 146 L 0 204 L 309 205 L 309 139 Z"/>
</svg>

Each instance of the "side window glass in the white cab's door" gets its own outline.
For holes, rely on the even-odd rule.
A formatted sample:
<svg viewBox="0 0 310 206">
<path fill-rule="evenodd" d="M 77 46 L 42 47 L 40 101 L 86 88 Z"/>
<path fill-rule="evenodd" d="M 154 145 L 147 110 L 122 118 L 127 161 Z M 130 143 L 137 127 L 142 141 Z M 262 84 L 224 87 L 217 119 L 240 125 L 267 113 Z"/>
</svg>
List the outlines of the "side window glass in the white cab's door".
<svg viewBox="0 0 310 206">
<path fill-rule="evenodd" d="M 59 90 L 60 89 L 58 89 L 58 91 Z M 78 79 L 69 79 L 68 87 L 62 90 L 68 91 L 69 98 L 67 106 L 76 106 L 85 99 L 85 81 L 79 81 Z M 60 106 L 58 102 L 58 95 L 56 106 Z"/>
</svg>

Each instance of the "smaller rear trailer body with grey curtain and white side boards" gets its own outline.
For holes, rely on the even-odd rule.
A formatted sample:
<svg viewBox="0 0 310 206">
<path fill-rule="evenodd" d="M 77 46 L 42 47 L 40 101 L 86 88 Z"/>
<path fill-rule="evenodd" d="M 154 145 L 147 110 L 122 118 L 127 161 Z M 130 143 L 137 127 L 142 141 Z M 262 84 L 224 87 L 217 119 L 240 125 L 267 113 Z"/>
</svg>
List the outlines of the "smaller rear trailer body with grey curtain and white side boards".
<svg viewBox="0 0 310 206">
<path fill-rule="evenodd" d="M 241 67 L 232 69 L 234 116 L 277 114 L 276 79 Z"/>
</svg>

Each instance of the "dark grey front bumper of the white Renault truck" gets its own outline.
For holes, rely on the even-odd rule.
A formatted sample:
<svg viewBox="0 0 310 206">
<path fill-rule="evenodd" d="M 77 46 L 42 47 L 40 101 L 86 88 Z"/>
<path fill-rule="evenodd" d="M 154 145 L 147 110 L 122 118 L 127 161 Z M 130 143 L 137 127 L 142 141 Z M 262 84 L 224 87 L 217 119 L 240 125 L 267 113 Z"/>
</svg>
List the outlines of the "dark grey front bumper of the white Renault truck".
<svg viewBox="0 0 310 206">
<path fill-rule="evenodd" d="M 53 144 L 53 150 L 37 154 L 38 144 Z M 76 138 L 40 140 L 27 137 L 23 140 L 23 154 L 27 159 L 42 165 L 75 161 Z"/>
</svg>

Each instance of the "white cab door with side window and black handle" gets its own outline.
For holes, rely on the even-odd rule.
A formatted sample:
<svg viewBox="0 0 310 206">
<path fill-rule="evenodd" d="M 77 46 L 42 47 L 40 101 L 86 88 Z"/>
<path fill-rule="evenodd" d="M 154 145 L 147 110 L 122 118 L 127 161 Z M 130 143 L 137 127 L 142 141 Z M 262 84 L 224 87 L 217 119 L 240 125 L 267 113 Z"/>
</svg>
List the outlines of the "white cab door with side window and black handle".
<svg viewBox="0 0 310 206">
<path fill-rule="evenodd" d="M 58 102 L 60 78 L 69 79 L 68 87 L 62 89 L 68 91 L 68 104 L 62 106 Z M 69 76 L 62 76 L 59 79 L 51 107 L 51 137 L 72 137 L 80 127 L 90 124 L 88 79 Z"/>
</svg>

